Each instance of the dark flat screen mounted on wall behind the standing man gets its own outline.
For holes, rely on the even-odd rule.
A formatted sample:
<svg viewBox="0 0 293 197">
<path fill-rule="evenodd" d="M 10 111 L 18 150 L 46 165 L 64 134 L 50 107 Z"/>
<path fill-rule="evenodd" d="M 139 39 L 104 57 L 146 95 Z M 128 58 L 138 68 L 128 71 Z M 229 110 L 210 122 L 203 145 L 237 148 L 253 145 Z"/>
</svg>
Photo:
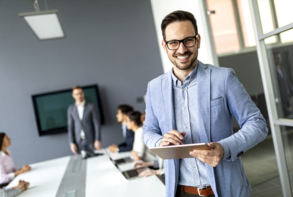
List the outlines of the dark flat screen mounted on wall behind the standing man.
<svg viewBox="0 0 293 197">
<path fill-rule="evenodd" d="M 100 123 L 104 124 L 104 114 L 101 105 L 98 85 L 82 87 L 86 102 L 96 105 Z M 75 103 L 72 89 L 59 90 L 32 95 L 39 135 L 66 132 L 67 108 Z"/>
</svg>

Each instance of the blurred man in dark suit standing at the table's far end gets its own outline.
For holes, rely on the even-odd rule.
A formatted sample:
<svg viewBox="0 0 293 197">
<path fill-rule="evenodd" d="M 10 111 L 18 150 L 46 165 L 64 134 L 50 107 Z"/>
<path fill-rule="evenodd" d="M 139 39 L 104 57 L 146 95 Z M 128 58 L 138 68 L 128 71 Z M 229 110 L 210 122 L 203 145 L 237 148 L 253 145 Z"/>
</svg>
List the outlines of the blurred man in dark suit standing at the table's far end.
<svg viewBox="0 0 293 197">
<path fill-rule="evenodd" d="M 98 109 L 92 103 L 85 102 L 84 90 L 80 86 L 72 88 L 75 104 L 67 109 L 68 138 L 72 153 L 87 148 L 101 150 L 101 132 Z"/>
</svg>

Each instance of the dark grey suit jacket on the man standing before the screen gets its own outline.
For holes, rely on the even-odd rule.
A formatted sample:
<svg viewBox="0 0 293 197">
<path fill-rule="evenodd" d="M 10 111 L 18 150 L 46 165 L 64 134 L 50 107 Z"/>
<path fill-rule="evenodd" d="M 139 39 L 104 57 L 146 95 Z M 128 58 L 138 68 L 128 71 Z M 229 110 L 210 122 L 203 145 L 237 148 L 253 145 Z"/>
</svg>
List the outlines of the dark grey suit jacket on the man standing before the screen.
<svg viewBox="0 0 293 197">
<path fill-rule="evenodd" d="M 94 104 L 85 102 L 83 120 L 78 115 L 76 105 L 70 105 L 67 109 L 67 121 L 69 143 L 80 144 L 82 129 L 90 147 L 93 147 L 95 140 L 101 140 L 98 109 Z"/>
</svg>

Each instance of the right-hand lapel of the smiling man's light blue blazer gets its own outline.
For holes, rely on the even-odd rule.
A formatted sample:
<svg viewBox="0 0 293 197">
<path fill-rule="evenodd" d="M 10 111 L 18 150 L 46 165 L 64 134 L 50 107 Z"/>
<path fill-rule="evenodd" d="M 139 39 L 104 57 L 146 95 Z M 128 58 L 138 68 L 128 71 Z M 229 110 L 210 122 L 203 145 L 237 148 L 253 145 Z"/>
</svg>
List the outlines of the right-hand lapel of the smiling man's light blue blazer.
<svg viewBox="0 0 293 197">
<path fill-rule="evenodd" d="M 210 69 L 198 61 L 197 110 L 201 142 L 210 142 Z"/>
</svg>

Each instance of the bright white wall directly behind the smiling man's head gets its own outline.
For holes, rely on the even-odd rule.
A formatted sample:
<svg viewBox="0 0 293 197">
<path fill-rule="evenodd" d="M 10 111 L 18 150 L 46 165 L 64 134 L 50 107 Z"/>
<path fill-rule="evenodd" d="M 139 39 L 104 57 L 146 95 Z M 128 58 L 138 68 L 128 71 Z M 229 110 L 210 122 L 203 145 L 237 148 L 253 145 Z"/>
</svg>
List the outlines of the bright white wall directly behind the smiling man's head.
<svg viewBox="0 0 293 197">
<path fill-rule="evenodd" d="M 172 67 L 172 63 L 161 45 L 163 40 L 161 22 L 167 14 L 175 10 L 188 11 L 194 15 L 197 21 L 198 33 L 201 35 L 198 59 L 203 63 L 218 66 L 217 56 L 214 53 L 213 41 L 209 32 L 209 24 L 206 20 L 208 16 L 205 11 L 204 0 L 150 0 L 150 2 L 164 72 L 167 72 Z"/>
</svg>

